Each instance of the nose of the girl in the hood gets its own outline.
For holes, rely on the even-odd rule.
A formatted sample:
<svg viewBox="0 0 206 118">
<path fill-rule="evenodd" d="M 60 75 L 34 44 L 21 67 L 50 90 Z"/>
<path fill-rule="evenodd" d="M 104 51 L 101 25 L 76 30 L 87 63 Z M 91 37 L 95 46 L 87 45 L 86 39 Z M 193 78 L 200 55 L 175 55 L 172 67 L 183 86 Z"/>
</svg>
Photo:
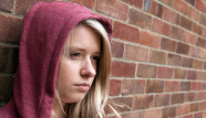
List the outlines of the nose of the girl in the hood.
<svg viewBox="0 0 206 118">
<path fill-rule="evenodd" d="M 82 65 L 80 74 L 84 78 L 94 77 L 96 75 L 96 71 L 95 71 L 94 66 L 92 65 L 90 57 L 87 57 L 87 58 L 85 58 L 85 61 L 83 61 L 83 65 Z"/>
</svg>

